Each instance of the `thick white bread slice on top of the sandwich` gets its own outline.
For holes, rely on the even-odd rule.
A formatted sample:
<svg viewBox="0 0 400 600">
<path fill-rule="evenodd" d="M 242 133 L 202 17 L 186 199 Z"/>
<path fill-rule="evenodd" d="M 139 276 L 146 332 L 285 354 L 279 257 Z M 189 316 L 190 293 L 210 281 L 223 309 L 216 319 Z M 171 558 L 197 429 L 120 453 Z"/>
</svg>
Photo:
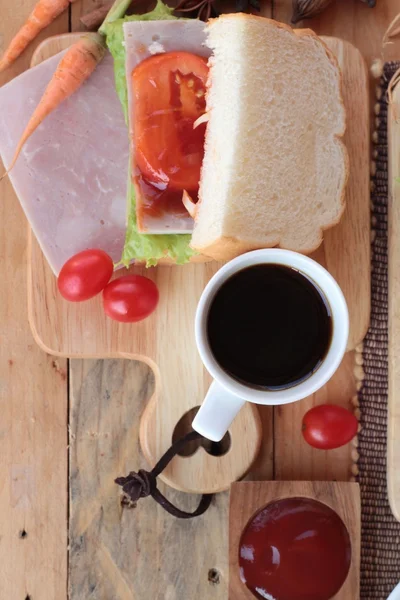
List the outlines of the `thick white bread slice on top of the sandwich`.
<svg viewBox="0 0 400 600">
<path fill-rule="evenodd" d="M 192 246 L 229 260 L 308 253 L 344 209 L 341 75 L 310 30 L 250 15 L 212 20 L 209 122 Z"/>
</svg>

